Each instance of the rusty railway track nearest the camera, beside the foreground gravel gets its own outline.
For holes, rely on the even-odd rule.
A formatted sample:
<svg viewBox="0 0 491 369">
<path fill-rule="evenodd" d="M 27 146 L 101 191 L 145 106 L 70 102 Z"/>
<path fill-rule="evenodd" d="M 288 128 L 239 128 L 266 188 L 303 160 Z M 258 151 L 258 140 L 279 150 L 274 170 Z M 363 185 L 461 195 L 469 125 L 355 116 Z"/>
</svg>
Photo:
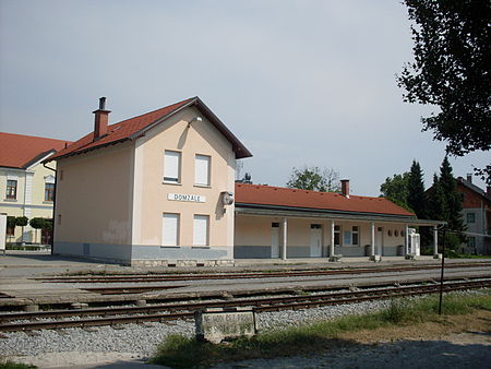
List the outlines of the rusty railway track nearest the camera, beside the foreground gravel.
<svg viewBox="0 0 491 369">
<path fill-rule="evenodd" d="M 491 279 L 444 284 L 444 291 L 474 288 L 489 288 Z M 206 308 L 254 307 L 255 311 L 279 311 L 308 309 L 328 305 L 351 303 L 375 299 L 434 294 L 439 285 L 399 286 L 391 288 L 364 289 L 356 291 L 330 293 L 306 296 L 262 297 L 253 299 L 231 299 L 225 301 L 202 301 L 187 303 L 165 303 L 144 307 L 110 307 L 82 310 L 55 310 L 0 314 L 0 332 L 33 330 L 58 330 L 65 328 L 87 328 L 121 325 L 128 323 L 165 322 L 191 319 L 194 312 Z M 77 317 L 76 320 L 67 318 Z M 89 318 L 87 318 L 89 317 Z M 99 317 L 99 318 L 93 318 Z M 64 319 L 63 319 L 64 318 Z M 45 319 L 39 321 L 40 319 Z M 46 320 L 53 319 L 53 320 Z M 27 322 L 25 322 L 27 320 Z M 21 322 L 19 322 L 21 321 Z"/>
</svg>

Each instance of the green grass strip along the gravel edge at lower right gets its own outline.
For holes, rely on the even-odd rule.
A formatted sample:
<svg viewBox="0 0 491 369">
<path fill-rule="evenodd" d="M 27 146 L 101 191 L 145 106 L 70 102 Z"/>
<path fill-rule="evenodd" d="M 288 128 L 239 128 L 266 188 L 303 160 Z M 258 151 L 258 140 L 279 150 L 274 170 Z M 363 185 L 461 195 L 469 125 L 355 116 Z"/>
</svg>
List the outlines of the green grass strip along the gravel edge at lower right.
<svg viewBox="0 0 491 369">
<path fill-rule="evenodd" d="M 475 309 L 491 310 L 491 291 L 481 295 L 444 296 L 444 314 L 465 314 Z M 374 313 L 345 316 L 335 320 L 268 331 L 252 338 L 239 338 L 219 345 L 181 335 L 169 335 L 158 346 L 151 362 L 171 368 L 197 368 L 219 361 L 319 354 L 320 350 L 354 344 L 340 340 L 340 335 L 346 332 L 414 325 L 428 321 L 444 323 L 438 310 L 438 296 L 430 296 L 418 300 L 393 300 L 387 309 Z"/>
</svg>

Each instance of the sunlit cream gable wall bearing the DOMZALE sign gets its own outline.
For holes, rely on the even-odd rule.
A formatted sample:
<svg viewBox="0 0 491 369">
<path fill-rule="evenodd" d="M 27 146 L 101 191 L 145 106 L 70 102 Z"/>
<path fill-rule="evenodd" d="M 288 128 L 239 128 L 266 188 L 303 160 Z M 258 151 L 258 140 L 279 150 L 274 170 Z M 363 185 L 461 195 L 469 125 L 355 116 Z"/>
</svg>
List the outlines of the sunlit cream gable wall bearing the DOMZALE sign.
<svg viewBox="0 0 491 369">
<path fill-rule="evenodd" d="M 202 117 L 203 121 L 188 121 Z M 165 151 L 181 152 L 181 183 L 164 183 Z M 194 186 L 195 154 L 211 156 L 211 186 Z M 180 214 L 179 245 L 193 245 L 193 216 L 209 215 L 209 246 L 233 245 L 233 206 L 224 214 L 220 193 L 233 192 L 231 144 L 195 108 L 188 108 L 136 142 L 133 245 L 160 246 L 164 213 Z M 206 197 L 205 203 L 169 201 L 168 193 Z"/>
</svg>

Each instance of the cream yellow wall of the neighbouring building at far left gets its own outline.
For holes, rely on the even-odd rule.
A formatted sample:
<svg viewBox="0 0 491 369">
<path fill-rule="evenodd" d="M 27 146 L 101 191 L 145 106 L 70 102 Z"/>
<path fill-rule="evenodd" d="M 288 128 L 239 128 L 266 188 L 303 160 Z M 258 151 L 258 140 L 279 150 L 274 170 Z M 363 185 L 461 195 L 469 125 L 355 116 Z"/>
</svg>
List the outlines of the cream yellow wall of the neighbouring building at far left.
<svg viewBox="0 0 491 369">
<path fill-rule="evenodd" d="M 51 163 L 49 167 L 56 168 L 56 165 Z M 17 177 L 15 200 L 5 199 L 9 174 Z M 52 202 L 45 201 L 45 178 L 48 176 L 55 176 L 55 172 L 40 163 L 27 169 L 0 168 L 0 213 L 7 213 L 8 216 L 26 216 L 29 221 L 34 217 L 52 218 Z M 8 241 L 20 242 L 21 240 L 22 227 L 15 227 L 15 235 L 9 237 Z M 40 231 L 27 225 L 24 227 L 24 241 L 39 242 Z"/>
</svg>

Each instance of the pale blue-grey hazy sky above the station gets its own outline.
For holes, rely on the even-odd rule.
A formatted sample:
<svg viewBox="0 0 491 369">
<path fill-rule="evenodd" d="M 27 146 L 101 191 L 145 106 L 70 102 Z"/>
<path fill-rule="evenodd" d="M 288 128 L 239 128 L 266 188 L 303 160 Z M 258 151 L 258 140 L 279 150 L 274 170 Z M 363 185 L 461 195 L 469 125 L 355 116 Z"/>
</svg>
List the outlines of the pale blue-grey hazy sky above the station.
<svg viewBox="0 0 491 369">
<path fill-rule="evenodd" d="M 396 84 L 409 25 L 394 0 L 0 0 L 0 131 L 75 141 L 100 96 L 110 122 L 200 96 L 252 152 L 254 183 L 308 165 L 379 195 L 416 159 L 431 186 L 445 145 L 420 117 L 438 109 Z M 451 157 L 463 177 L 490 162 Z"/>
</svg>

